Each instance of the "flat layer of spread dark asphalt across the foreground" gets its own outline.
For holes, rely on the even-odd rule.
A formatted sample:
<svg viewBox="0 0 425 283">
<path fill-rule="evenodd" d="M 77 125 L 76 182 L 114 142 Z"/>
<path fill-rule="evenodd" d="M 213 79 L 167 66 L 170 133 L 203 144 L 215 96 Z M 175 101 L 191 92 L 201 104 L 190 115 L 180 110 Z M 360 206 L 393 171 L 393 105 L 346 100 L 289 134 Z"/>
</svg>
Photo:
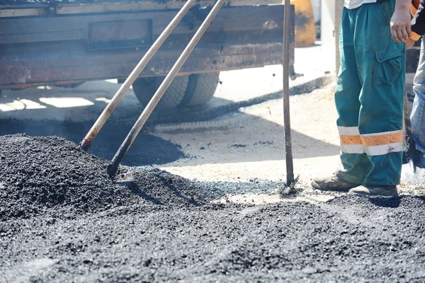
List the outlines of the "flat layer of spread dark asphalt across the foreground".
<svg viewBox="0 0 425 283">
<path fill-rule="evenodd" d="M 160 207 L 0 222 L 0 274 L 5 282 L 425 280 L 421 197 Z"/>
</svg>

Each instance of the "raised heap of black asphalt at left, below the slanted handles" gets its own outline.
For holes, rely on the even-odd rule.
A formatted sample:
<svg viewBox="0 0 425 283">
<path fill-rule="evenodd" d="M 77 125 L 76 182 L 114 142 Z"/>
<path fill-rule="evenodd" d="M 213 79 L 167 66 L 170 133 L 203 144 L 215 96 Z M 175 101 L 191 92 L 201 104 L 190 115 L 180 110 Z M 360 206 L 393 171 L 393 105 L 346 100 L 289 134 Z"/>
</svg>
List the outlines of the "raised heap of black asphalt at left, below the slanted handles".
<svg viewBox="0 0 425 283">
<path fill-rule="evenodd" d="M 0 144 L 0 221 L 47 210 L 73 216 L 136 203 L 203 203 L 193 183 L 164 171 L 120 168 L 111 180 L 108 161 L 60 137 L 6 135 Z"/>
</svg>

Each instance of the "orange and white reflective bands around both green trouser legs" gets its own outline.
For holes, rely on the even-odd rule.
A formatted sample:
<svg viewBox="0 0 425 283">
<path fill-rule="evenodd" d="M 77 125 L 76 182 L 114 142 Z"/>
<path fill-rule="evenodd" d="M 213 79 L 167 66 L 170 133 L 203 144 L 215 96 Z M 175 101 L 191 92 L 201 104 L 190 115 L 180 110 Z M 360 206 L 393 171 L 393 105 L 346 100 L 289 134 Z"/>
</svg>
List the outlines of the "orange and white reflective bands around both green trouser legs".
<svg viewBox="0 0 425 283">
<path fill-rule="evenodd" d="M 402 130 L 360 134 L 357 127 L 338 127 L 341 151 L 346 154 L 378 156 L 395 151 L 403 151 Z"/>
</svg>

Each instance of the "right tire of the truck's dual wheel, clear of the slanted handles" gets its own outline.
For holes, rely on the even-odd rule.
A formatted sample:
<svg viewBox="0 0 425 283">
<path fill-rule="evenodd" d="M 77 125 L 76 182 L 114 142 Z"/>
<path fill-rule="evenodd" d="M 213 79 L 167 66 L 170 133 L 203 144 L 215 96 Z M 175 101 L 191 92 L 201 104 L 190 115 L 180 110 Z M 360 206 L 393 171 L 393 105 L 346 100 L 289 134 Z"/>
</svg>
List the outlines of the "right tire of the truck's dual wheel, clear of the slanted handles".
<svg viewBox="0 0 425 283">
<path fill-rule="evenodd" d="M 218 85 L 219 72 L 193 74 L 189 76 L 186 93 L 179 107 L 195 106 L 208 103 L 214 96 Z"/>
</svg>

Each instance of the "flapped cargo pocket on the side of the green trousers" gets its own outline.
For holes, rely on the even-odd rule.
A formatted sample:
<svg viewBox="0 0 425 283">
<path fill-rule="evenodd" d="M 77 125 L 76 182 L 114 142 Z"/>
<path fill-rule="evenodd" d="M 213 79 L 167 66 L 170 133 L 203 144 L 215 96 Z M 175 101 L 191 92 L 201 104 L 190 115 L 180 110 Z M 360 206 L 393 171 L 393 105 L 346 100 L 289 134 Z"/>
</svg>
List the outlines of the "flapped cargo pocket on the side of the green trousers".
<svg viewBox="0 0 425 283">
<path fill-rule="evenodd" d="M 391 84 L 402 71 L 402 56 L 404 45 L 390 45 L 380 50 L 375 50 L 376 60 L 373 71 L 373 84 Z"/>
</svg>

